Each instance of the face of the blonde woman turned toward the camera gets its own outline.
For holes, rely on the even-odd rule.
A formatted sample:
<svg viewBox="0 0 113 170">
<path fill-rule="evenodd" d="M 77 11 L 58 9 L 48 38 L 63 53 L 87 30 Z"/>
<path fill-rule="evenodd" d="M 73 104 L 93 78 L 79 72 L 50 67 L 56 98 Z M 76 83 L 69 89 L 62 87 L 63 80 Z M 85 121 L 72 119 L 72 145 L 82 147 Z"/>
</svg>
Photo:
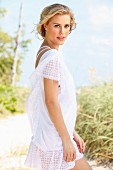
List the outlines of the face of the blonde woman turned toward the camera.
<svg viewBox="0 0 113 170">
<path fill-rule="evenodd" d="M 46 35 L 45 40 L 54 47 L 64 44 L 70 32 L 70 15 L 55 15 L 48 24 L 44 24 Z"/>
</svg>

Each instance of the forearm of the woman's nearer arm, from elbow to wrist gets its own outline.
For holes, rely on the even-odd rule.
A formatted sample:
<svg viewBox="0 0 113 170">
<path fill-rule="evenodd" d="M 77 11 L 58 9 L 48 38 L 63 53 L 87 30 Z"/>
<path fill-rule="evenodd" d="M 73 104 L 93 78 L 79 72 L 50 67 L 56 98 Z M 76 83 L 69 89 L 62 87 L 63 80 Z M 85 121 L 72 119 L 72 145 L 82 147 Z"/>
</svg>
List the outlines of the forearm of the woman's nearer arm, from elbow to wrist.
<svg viewBox="0 0 113 170">
<path fill-rule="evenodd" d="M 50 114 L 50 118 L 54 123 L 54 126 L 58 131 L 62 141 L 65 142 L 66 140 L 70 140 L 70 136 L 64 123 L 59 102 L 48 102 L 46 103 L 46 106 Z"/>
</svg>

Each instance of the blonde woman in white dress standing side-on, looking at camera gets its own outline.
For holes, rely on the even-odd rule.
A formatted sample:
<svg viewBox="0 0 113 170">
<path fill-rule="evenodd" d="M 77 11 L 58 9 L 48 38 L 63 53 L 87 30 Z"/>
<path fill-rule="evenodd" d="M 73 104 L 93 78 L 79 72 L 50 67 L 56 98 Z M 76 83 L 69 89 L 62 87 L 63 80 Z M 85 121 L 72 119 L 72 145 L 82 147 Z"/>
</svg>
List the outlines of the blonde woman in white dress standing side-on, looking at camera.
<svg viewBox="0 0 113 170">
<path fill-rule="evenodd" d="M 37 25 L 44 40 L 27 100 L 33 136 L 25 161 L 34 170 L 91 170 L 83 157 L 84 141 L 74 131 L 77 105 L 73 78 L 59 52 L 75 25 L 72 11 L 62 4 L 44 8 Z"/>
</svg>

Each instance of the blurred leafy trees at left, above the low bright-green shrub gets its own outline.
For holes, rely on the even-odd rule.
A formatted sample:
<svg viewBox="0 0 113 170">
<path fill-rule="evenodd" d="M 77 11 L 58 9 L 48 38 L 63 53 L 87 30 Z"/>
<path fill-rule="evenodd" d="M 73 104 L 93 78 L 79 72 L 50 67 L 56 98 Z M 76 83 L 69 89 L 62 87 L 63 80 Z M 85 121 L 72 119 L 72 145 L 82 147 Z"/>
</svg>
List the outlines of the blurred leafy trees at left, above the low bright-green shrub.
<svg viewBox="0 0 113 170">
<path fill-rule="evenodd" d="M 6 15 L 6 12 L 5 9 L 0 8 L 0 17 L 2 19 Z M 30 43 L 29 39 L 24 40 L 24 36 L 25 33 L 22 30 L 21 40 L 19 41 L 18 32 L 16 35 L 11 36 L 0 28 L 0 84 L 14 85 L 15 81 L 19 81 L 22 73 L 20 69 L 22 59 L 25 52 L 27 52 L 28 44 Z"/>
</svg>

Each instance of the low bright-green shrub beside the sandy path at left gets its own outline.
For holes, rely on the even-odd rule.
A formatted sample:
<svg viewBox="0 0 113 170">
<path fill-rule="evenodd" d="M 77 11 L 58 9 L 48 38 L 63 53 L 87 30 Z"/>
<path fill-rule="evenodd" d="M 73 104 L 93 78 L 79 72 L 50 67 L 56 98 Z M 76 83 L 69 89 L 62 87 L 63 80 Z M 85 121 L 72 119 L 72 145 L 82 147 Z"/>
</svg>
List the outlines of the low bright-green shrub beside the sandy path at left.
<svg viewBox="0 0 113 170">
<path fill-rule="evenodd" d="M 24 112 L 28 92 L 27 88 L 0 85 L 0 113 Z"/>
</svg>

